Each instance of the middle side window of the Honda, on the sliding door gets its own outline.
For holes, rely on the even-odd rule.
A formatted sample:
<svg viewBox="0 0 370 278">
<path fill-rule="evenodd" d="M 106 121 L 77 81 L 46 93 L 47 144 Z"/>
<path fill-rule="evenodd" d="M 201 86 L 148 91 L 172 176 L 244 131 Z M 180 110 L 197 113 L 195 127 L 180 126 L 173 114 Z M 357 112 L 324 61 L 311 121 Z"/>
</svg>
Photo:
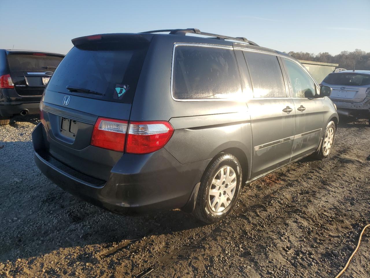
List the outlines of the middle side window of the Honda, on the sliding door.
<svg viewBox="0 0 370 278">
<path fill-rule="evenodd" d="M 244 55 L 252 78 L 254 97 L 286 97 L 283 73 L 277 57 L 248 51 Z"/>
</svg>

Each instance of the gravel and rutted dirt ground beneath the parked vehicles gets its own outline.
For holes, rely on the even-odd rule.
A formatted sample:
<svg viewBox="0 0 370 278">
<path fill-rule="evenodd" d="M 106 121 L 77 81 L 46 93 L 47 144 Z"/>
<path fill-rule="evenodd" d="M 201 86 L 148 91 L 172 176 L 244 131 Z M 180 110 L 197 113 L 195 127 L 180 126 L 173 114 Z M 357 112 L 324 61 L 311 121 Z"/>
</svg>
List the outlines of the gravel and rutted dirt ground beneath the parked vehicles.
<svg viewBox="0 0 370 278">
<path fill-rule="evenodd" d="M 179 210 L 120 216 L 37 169 L 39 119 L 0 127 L 1 277 L 334 277 L 370 221 L 370 128 L 340 123 L 323 161 L 303 159 L 244 186 L 234 212 L 202 225 Z M 367 232 L 369 234 L 369 232 Z M 370 276 L 369 236 L 342 277 Z"/>
</svg>

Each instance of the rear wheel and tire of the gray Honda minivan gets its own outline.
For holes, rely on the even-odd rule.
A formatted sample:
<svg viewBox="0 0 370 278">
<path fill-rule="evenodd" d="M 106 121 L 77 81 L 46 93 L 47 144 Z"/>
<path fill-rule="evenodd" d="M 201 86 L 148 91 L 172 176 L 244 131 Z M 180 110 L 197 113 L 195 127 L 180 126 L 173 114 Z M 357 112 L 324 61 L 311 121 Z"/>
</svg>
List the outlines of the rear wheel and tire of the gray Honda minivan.
<svg viewBox="0 0 370 278">
<path fill-rule="evenodd" d="M 221 153 L 203 174 L 193 215 L 206 224 L 222 220 L 235 206 L 241 184 L 242 170 L 238 159 Z"/>
</svg>

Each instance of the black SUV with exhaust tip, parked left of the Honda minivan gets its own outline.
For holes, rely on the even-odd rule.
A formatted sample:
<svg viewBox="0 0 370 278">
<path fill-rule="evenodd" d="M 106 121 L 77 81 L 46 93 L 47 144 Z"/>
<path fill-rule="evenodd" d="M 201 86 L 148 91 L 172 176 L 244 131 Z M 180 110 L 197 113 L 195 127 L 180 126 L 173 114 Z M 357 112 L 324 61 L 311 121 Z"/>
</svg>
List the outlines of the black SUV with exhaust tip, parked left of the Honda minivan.
<svg viewBox="0 0 370 278">
<path fill-rule="evenodd" d="M 14 115 L 38 114 L 41 95 L 64 55 L 0 49 L 0 125 Z"/>
</svg>

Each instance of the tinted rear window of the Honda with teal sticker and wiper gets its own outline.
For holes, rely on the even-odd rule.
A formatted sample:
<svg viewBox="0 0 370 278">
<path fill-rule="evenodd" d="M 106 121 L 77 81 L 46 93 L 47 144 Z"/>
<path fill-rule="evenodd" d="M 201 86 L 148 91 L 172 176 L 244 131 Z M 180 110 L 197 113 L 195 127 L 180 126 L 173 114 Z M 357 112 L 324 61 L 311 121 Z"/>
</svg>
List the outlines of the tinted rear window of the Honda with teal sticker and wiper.
<svg viewBox="0 0 370 278">
<path fill-rule="evenodd" d="M 73 47 L 55 70 L 47 89 L 132 103 L 148 46 L 149 43 L 112 42 Z M 78 91 L 70 92 L 67 87 Z"/>
</svg>

